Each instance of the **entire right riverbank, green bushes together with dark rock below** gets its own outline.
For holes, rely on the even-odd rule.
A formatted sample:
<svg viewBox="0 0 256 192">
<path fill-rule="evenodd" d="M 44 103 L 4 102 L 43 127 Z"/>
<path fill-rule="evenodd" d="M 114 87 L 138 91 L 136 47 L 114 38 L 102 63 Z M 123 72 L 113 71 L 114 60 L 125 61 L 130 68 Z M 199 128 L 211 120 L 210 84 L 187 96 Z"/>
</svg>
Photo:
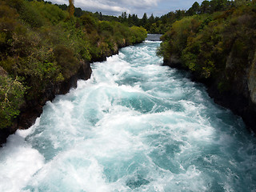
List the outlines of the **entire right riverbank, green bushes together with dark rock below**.
<svg viewBox="0 0 256 192">
<path fill-rule="evenodd" d="M 174 22 L 162 36 L 164 64 L 190 71 L 210 97 L 256 131 L 256 3 Z"/>
</svg>

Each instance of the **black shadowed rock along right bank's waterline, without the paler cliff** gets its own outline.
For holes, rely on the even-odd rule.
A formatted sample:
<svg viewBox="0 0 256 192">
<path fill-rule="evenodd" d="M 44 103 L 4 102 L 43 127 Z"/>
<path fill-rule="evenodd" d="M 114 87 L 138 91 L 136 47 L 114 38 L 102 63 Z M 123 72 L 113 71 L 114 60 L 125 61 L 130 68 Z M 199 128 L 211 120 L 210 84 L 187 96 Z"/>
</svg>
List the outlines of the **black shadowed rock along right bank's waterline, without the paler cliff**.
<svg viewBox="0 0 256 192">
<path fill-rule="evenodd" d="M 252 64 L 252 66 L 254 65 L 256 65 L 255 62 Z M 250 97 L 250 95 L 254 95 L 254 92 L 251 92 L 248 89 L 249 86 L 247 83 L 249 82 L 244 81 L 244 83 L 240 86 L 234 83 L 232 89 L 230 89 L 229 91 L 221 92 L 218 86 L 218 78 L 200 78 L 198 74 L 195 74 L 187 67 L 182 66 L 182 64 L 177 62 L 177 60 L 168 61 L 165 59 L 163 62 L 163 66 L 170 66 L 171 68 L 186 70 L 190 72 L 190 79 L 194 82 L 201 82 L 203 85 L 205 85 L 207 93 L 209 94 L 210 98 L 214 99 L 215 103 L 227 109 L 230 109 L 234 114 L 241 116 L 242 120 L 246 124 L 247 129 L 256 133 L 256 105 Z M 249 74 L 247 74 L 244 78 L 249 78 Z M 256 79 L 253 78 L 250 81 L 256 82 Z M 247 95 L 247 97 L 245 95 Z"/>
</svg>

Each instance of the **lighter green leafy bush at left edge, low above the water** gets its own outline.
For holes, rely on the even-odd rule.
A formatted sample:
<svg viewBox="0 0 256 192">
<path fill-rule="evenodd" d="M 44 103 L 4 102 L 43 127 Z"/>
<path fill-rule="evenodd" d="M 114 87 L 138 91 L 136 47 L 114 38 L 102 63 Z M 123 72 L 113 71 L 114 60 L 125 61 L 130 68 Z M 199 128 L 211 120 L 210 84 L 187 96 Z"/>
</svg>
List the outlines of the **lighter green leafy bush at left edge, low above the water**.
<svg viewBox="0 0 256 192">
<path fill-rule="evenodd" d="M 18 116 L 22 105 L 25 87 L 18 81 L 0 75 L 0 129 L 10 126 L 12 120 Z"/>
</svg>

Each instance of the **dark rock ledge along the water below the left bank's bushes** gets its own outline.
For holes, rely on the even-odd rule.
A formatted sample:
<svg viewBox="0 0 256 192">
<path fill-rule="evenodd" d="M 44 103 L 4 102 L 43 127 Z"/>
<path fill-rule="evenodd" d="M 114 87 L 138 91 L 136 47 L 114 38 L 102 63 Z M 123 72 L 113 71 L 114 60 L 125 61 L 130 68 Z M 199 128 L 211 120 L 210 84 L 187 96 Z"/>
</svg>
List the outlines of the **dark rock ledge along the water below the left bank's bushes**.
<svg viewBox="0 0 256 192">
<path fill-rule="evenodd" d="M 55 98 L 55 95 L 68 93 L 70 88 L 77 86 L 78 79 L 89 79 L 92 73 L 90 62 L 81 61 L 79 62 L 79 66 L 77 73 L 69 79 L 66 79 L 64 82 L 48 86 L 38 100 L 26 101 L 26 104 L 21 109 L 20 115 L 14 120 L 14 125 L 7 129 L 0 130 L 0 145 L 5 143 L 6 138 L 10 134 L 14 134 L 16 130 L 24 130 L 32 126 L 36 118 L 42 114 L 42 107 L 47 101 L 52 101 Z"/>
</svg>

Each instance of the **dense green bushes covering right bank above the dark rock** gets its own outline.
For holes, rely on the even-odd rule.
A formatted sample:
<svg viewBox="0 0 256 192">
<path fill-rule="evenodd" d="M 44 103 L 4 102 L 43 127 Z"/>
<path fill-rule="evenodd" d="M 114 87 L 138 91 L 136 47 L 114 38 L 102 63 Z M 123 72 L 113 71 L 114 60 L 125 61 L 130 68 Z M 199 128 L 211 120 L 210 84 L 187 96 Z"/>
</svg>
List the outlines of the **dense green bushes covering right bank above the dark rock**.
<svg viewBox="0 0 256 192">
<path fill-rule="evenodd" d="M 174 22 L 158 50 L 166 63 L 214 79 L 220 92 L 242 86 L 256 48 L 256 2 L 225 3 L 231 4 Z"/>
</svg>

